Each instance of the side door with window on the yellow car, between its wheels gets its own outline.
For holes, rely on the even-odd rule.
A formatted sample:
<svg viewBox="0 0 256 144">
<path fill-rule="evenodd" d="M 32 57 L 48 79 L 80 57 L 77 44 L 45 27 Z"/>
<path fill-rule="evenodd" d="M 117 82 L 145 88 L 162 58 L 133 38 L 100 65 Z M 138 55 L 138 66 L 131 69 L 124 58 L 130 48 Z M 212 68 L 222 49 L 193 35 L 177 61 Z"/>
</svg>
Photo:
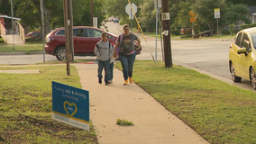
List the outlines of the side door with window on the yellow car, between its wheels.
<svg viewBox="0 0 256 144">
<path fill-rule="evenodd" d="M 240 54 L 241 58 L 239 59 L 241 75 L 242 75 L 242 77 L 249 79 L 249 77 L 250 77 L 249 76 L 249 67 L 250 67 L 250 60 L 251 60 L 251 43 L 250 43 L 249 37 L 246 33 L 243 33 L 243 35 L 242 35 L 241 48 L 246 48 L 246 53 Z"/>
</svg>

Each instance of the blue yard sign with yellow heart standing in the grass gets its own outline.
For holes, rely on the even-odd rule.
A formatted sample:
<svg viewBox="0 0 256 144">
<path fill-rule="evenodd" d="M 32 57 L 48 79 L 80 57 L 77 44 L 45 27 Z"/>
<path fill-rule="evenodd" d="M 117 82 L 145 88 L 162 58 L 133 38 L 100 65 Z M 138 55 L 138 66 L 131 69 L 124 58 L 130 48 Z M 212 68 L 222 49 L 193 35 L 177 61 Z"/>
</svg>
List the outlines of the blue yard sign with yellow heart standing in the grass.
<svg viewBox="0 0 256 144">
<path fill-rule="evenodd" d="M 52 81 L 52 120 L 89 130 L 89 92 Z"/>
</svg>

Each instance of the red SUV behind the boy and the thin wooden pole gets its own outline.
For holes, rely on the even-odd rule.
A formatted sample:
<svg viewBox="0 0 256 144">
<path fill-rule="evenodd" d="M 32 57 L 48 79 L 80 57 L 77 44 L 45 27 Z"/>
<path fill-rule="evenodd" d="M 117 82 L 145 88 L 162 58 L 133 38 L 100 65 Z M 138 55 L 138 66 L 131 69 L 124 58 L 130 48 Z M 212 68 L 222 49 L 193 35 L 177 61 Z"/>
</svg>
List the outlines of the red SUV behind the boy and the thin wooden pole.
<svg viewBox="0 0 256 144">
<path fill-rule="evenodd" d="M 75 56 L 95 56 L 96 43 L 101 40 L 101 33 L 107 33 L 107 40 L 115 44 L 117 37 L 107 31 L 88 26 L 74 26 L 74 55 Z M 59 60 L 66 59 L 65 48 L 65 28 L 57 28 L 51 31 L 45 38 L 44 47 L 46 53 L 56 56 Z"/>
</svg>

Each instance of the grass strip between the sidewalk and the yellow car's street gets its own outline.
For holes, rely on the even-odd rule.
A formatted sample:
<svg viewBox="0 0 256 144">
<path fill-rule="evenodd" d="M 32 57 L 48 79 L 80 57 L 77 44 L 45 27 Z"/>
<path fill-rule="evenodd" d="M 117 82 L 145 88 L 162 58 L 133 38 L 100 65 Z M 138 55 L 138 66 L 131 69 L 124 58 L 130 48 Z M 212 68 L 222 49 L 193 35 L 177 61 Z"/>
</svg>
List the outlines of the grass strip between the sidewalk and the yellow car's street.
<svg viewBox="0 0 256 144">
<path fill-rule="evenodd" d="M 256 143 L 255 92 L 162 61 L 136 60 L 133 79 L 211 144 Z"/>
</svg>

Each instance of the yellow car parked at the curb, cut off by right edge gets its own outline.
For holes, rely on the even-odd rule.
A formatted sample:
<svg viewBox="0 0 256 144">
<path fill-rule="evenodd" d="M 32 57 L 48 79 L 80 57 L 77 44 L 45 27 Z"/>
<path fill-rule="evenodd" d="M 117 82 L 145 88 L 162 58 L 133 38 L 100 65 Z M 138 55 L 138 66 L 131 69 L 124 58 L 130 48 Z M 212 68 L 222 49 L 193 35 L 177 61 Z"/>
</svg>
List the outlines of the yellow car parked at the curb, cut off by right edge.
<svg viewBox="0 0 256 144">
<path fill-rule="evenodd" d="M 237 33 L 230 45 L 229 68 L 233 82 L 250 80 L 256 90 L 256 27 Z"/>
</svg>

